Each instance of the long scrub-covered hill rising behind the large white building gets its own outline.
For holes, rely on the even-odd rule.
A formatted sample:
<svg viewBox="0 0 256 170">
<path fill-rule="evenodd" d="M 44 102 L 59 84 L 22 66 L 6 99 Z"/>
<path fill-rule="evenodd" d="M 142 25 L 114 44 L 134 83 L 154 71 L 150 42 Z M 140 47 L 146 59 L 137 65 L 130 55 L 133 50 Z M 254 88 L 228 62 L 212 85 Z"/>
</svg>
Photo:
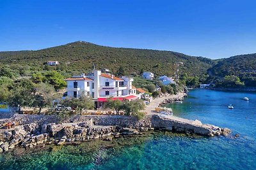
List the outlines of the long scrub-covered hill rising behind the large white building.
<svg viewBox="0 0 256 170">
<path fill-rule="evenodd" d="M 0 63 L 12 67 L 39 69 L 47 60 L 58 60 L 61 71 L 88 72 L 95 63 L 96 69 L 108 68 L 115 73 L 120 66 L 126 74 L 152 71 L 157 75 L 205 76 L 214 61 L 204 57 L 193 57 L 177 52 L 113 48 L 84 41 L 35 51 L 0 52 Z"/>
</svg>

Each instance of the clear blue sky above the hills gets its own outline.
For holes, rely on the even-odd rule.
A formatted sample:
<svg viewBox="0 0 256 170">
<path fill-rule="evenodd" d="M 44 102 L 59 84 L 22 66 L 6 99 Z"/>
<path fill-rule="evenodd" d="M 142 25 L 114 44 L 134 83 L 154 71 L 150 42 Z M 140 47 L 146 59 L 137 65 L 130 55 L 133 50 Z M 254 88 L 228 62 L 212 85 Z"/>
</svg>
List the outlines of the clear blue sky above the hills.
<svg viewBox="0 0 256 170">
<path fill-rule="evenodd" d="M 72 41 L 218 59 L 256 52 L 256 1 L 1 0 L 0 51 Z"/>
</svg>

